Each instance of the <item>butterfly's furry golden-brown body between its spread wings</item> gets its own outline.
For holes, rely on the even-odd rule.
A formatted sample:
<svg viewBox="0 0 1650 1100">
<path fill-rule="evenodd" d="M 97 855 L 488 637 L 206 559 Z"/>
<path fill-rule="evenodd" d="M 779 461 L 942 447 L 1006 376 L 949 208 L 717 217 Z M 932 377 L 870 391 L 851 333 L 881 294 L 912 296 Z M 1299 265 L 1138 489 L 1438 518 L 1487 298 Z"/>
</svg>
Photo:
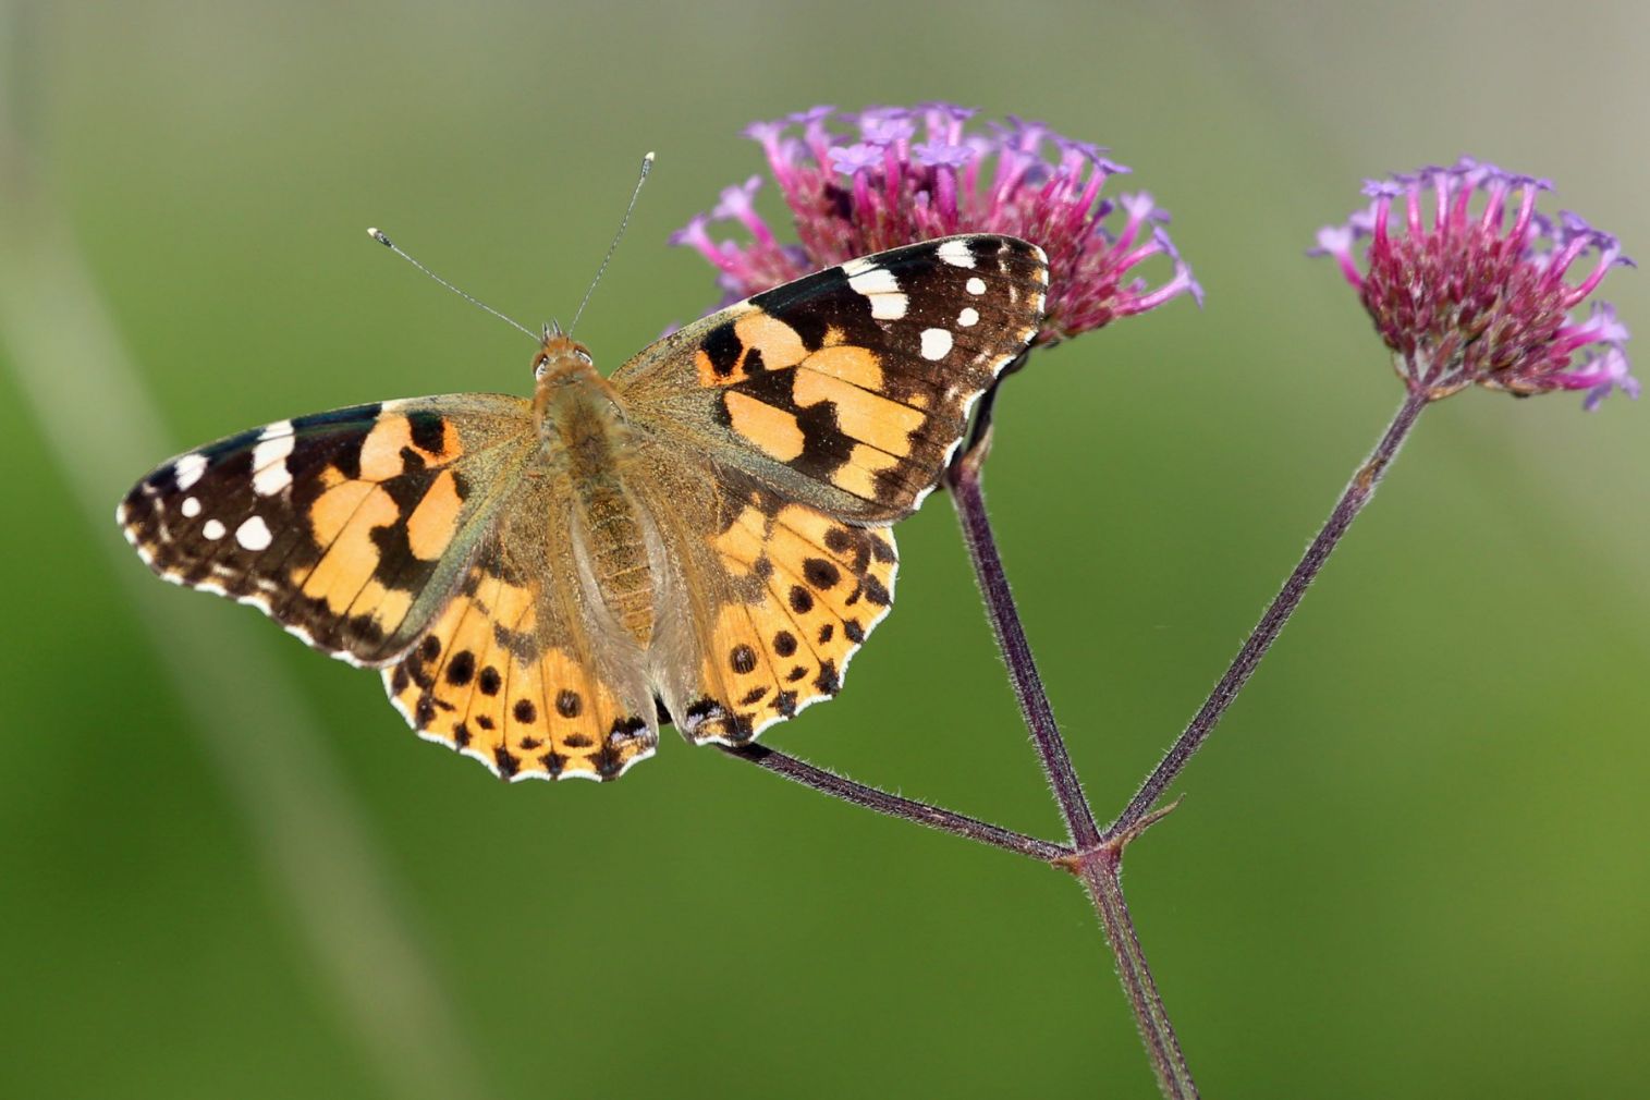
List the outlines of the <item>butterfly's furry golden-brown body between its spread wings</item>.
<svg viewBox="0 0 1650 1100">
<path fill-rule="evenodd" d="M 634 432 L 584 345 L 546 336 L 533 373 L 541 462 L 549 477 L 568 478 L 591 595 L 645 650 L 653 637 L 653 576 L 642 511 L 624 483 Z"/>
</svg>

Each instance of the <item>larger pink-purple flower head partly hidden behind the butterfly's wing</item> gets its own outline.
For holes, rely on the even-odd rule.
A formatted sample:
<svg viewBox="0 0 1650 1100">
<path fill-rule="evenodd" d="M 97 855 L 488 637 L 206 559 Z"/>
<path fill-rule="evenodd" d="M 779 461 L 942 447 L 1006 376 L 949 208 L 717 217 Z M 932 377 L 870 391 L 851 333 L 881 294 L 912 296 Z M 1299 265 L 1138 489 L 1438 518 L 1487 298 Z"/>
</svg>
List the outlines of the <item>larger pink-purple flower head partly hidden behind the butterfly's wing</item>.
<svg viewBox="0 0 1650 1100">
<path fill-rule="evenodd" d="M 767 155 L 800 246 L 780 246 L 751 206 L 759 176 L 723 191 L 710 218 L 695 218 L 672 241 L 698 249 L 721 272 L 728 300 L 738 300 L 901 244 L 954 233 L 1023 237 L 1049 261 L 1041 345 L 1183 294 L 1203 300 L 1168 239 L 1168 213 L 1143 191 L 1101 196 L 1127 168 L 1036 122 L 1010 117 L 970 130 L 974 114 L 954 104 L 815 107 L 757 122 L 746 135 Z M 749 239 L 718 241 L 713 221 L 736 223 Z M 1135 269 L 1155 256 L 1170 275 L 1153 287 Z"/>
</svg>

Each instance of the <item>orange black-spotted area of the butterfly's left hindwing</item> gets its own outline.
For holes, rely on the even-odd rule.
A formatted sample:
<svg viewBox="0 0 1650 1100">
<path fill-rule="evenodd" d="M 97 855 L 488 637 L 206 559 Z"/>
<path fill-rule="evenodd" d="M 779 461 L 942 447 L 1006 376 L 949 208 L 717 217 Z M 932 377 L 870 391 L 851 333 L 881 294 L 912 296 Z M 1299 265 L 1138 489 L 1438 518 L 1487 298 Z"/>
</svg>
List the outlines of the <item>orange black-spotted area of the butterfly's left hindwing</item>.
<svg viewBox="0 0 1650 1100">
<path fill-rule="evenodd" d="M 384 686 L 421 737 L 502 778 L 617 778 L 658 737 L 587 663 L 544 642 L 551 625 L 536 581 L 474 566 Z"/>
</svg>

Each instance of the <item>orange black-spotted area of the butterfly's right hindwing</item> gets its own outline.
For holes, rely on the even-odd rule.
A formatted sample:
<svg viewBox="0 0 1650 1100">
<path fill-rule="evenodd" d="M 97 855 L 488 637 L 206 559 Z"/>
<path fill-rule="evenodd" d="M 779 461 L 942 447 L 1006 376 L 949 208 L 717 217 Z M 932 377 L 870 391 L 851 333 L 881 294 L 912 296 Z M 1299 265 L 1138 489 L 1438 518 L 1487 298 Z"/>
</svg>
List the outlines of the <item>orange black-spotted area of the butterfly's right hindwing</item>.
<svg viewBox="0 0 1650 1100">
<path fill-rule="evenodd" d="M 741 508 L 711 539 L 747 595 L 716 612 L 703 635 L 700 699 L 681 729 L 695 742 L 742 744 L 828 699 L 848 661 L 893 604 L 894 541 L 804 505 Z"/>
</svg>

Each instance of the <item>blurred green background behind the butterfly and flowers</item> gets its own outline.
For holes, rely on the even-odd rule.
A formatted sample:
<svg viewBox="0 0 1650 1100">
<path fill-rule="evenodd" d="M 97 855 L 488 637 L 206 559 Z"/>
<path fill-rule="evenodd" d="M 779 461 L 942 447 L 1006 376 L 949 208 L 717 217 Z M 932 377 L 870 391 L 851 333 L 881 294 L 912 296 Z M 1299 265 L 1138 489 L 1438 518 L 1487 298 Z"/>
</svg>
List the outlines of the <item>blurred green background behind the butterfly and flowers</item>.
<svg viewBox="0 0 1650 1100">
<path fill-rule="evenodd" d="M 150 465 L 356 401 L 609 369 L 714 300 L 665 236 L 752 119 L 945 97 L 1109 145 L 1208 289 L 1041 356 L 992 505 L 1119 808 L 1396 407 L 1333 266 L 1366 175 L 1468 152 L 1650 251 L 1650 8 L 3 3 L 7 1097 L 1148 1097 L 1064 876 L 667 734 L 505 787 L 376 676 L 153 581 Z M 771 198 L 771 196 L 769 196 Z M 1650 325 L 1642 274 L 1602 297 Z M 1645 353 L 1638 351 L 1640 363 Z M 1643 373 L 1643 368 L 1640 368 Z M 1209 1097 L 1624 1095 L 1650 1024 L 1650 407 L 1432 409 L 1130 851 Z M 843 696 L 772 731 L 1054 836 L 944 500 Z"/>
</svg>

